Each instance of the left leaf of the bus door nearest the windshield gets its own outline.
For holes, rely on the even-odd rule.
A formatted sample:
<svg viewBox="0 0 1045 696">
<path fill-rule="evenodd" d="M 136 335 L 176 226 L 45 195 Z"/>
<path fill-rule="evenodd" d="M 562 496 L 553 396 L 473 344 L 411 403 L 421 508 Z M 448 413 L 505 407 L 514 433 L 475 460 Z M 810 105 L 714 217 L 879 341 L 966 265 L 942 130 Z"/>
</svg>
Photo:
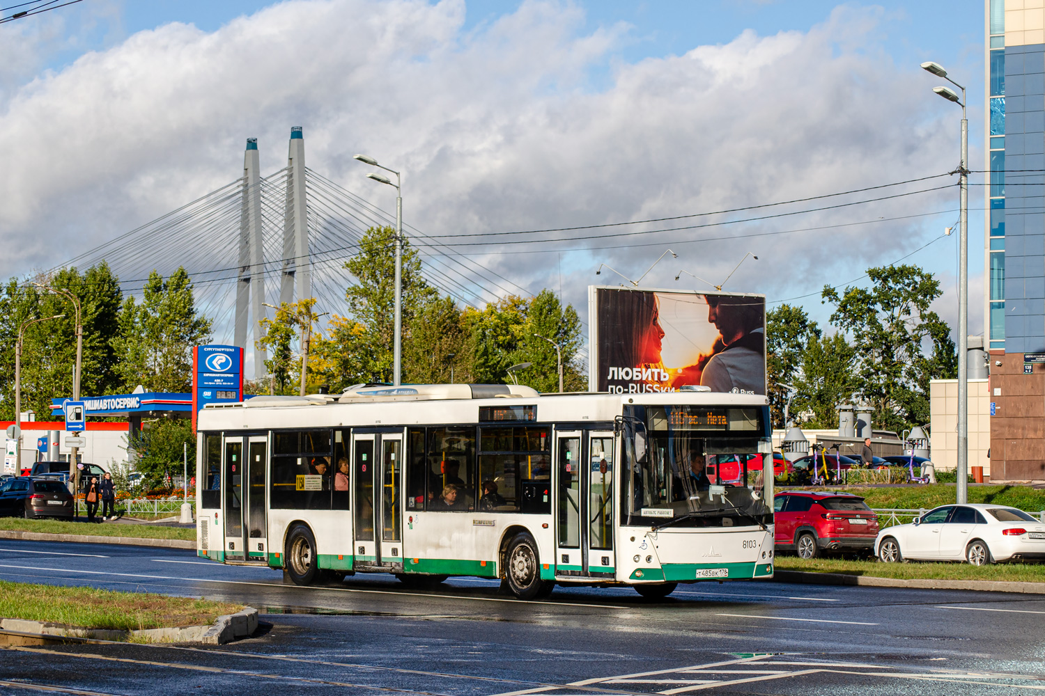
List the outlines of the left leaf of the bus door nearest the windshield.
<svg viewBox="0 0 1045 696">
<path fill-rule="evenodd" d="M 581 534 L 585 519 L 581 432 L 555 434 L 555 574 L 584 575 Z"/>
</svg>

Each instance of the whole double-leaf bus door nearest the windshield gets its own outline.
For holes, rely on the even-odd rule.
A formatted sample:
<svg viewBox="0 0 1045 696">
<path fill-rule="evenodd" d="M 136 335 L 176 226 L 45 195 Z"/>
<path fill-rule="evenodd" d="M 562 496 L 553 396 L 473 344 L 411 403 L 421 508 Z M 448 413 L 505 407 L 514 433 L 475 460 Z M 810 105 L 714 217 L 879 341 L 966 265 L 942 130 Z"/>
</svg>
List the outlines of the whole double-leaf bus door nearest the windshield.
<svg viewBox="0 0 1045 696">
<path fill-rule="evenodd" d="M 612 432 L 556 433 L 555 574 L 613 578 Z"/>
</svg>

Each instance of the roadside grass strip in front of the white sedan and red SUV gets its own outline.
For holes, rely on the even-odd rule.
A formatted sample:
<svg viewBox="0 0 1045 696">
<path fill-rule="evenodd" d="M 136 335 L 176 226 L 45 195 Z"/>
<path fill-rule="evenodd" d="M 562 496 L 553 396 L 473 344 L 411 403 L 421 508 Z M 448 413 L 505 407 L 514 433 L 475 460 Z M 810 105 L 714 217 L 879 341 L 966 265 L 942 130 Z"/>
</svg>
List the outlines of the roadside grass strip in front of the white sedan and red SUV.
<svg viewBox="0 0 1045 696">
<path fill-rule="evenodd" d="M 814 558 L 803 560 L 797 556 L 776 556 L 776 570 L 805 571 L 807 573 L 841 573 L 866 575 L 901 580 L 988 580 L 991 582 L 1045 582 L 1045 563 L 997 563 L 970 566 L 910 561 L 882 563 L 876 560 L 846 560 L 843 558 Z"/>
</svg>

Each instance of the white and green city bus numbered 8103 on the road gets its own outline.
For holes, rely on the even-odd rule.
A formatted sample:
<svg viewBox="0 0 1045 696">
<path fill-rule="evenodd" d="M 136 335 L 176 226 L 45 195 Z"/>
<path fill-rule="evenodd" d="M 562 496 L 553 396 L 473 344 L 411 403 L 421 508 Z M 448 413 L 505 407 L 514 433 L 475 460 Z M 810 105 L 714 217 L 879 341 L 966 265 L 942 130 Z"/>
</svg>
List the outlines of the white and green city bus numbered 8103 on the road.
<svg viewBox="0 0 1045 696">
<path fill-rule="evenodd" d="M 208 405 L 198 553 L 298 584 L 467 575 L 526 599 L 770 577 L 766 399 L 700 389 L 359 386 Z"/>
</svg>

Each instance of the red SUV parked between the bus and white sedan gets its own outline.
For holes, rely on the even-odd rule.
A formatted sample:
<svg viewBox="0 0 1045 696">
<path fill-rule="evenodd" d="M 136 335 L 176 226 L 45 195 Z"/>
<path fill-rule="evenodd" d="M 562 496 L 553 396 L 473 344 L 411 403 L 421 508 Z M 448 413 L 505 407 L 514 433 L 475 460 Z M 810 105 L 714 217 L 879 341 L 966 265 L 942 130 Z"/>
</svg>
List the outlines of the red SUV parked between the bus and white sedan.
<svg viewBox="0 0 1045 696">
<path fill-rule="evenodd" d="M 847 493 L 788 490 L 773 498 L 776 550 L 802 558 L 826 552 L 873 554 L 878 515 L 863 498 Z"/>
</svg>

